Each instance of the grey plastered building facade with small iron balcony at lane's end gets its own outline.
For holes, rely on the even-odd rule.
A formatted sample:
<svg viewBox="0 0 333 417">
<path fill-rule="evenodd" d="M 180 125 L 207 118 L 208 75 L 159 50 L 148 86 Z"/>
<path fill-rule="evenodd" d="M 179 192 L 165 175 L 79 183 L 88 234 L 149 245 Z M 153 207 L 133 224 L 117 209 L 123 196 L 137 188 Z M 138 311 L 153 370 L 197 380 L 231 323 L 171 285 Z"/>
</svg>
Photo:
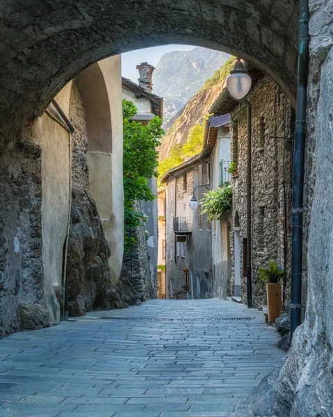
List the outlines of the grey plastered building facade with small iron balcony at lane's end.
<svg viewBox="0 0 333 417">
<path fill-rule="evenodd" d="M 211 224 L 202 205 L 188 206 L 196 186 L 209 186 L 208 160 L 195 156 L 168 171 L 166 186 L 166 281 L 167 298 L 209 298 L 211 280 Z M 206 188 L 195 190 L 200 201 Z"/>
</svg>

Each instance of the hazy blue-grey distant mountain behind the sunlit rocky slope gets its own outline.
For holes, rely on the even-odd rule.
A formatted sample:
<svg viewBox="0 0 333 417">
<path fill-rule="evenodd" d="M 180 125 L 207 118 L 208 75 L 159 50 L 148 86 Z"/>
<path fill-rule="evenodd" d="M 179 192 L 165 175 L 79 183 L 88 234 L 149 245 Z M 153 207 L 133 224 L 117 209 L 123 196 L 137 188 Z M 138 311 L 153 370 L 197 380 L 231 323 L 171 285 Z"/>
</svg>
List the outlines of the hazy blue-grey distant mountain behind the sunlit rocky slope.
<svg viewBox="0 0 333 417">
<path fill-rule="evenodd" d="M 170 120 L 186 101 L 229 57 L 224 52 L 200 47 L 168 52 L 161 57 L 154 71 L 153 92 L 164 97 L 163 120 L 166 128 L 170 127 Z"/>
</svg>

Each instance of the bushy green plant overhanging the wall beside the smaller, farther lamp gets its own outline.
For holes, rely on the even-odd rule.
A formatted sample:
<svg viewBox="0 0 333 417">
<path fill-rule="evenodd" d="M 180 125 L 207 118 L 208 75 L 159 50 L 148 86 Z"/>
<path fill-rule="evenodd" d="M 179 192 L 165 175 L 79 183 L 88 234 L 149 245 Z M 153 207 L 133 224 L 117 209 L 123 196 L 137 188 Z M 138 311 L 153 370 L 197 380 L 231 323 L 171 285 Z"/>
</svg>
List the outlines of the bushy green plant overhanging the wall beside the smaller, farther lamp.
<svg viewBox="0 0 333 417">
<path fill-rule="evenodd" d="M 202 213 L 209 213 L 209 220 L 218 220 L 223 211 L 232 208 L 232 186 L 222 186 L 204 194 L 202 208 Z"/>
</svg>

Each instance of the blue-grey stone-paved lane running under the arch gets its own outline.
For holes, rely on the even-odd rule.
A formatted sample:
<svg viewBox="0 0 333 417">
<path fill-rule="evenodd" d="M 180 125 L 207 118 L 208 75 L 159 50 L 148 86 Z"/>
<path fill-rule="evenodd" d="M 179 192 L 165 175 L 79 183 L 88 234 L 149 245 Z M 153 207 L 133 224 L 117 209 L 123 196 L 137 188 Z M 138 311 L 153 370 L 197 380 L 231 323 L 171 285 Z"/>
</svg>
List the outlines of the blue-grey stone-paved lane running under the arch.
<svg viewBox="0 0 333 417">
<path fill-rule="evenodd" d="M 227 301 L 95 311 L 0 341 L 0 416 L 228 416 L 281 361 L 277 340 Z"/>
</svg>

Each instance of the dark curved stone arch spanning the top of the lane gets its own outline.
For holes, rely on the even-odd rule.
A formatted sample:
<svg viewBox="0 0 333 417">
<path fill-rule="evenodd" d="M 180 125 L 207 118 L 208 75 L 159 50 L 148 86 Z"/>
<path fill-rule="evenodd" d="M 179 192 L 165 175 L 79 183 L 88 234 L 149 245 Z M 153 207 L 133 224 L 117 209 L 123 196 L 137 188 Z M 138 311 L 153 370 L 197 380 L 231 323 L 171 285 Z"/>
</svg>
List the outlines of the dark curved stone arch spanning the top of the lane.
<svg viewBox="0 0 333 417">
<path fill-rule="evenodd" d="M 42 114 L 84 68 L 106 56 L 193 44 L 249 60 L 295 104 L 297 0 L 12 0 L 0 5 L 0 108 L 17 122 Z M 38 22 L 38 23 L 37 23 Z M 9 41 L 10 40 L 10 41 Z"/>
</svg>

